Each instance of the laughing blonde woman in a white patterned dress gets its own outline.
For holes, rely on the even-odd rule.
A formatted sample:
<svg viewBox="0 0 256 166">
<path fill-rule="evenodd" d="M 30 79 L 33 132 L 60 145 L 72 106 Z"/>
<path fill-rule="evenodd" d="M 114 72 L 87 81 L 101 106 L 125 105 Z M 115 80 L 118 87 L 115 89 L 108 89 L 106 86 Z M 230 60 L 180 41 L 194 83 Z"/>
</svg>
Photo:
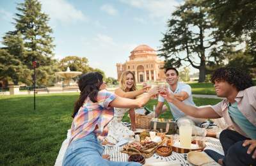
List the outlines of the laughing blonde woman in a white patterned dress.
<svg viewBox="0 0 256 166">
<path fill-rule="evenodd" d="M 143 84 L 143 88 L 136 89 L 136 81 L 134 73 L 131 71 L 126 71 L 122 73 L 120 79 L 120 87 L 115 90 L 115 94 L 122 98 L 134 99 L 136 96 L 147 92 L 147 84 Z M 129 111 L 131 119 L 131 130 L 122 123 L 124 114 Z M 113 120 L 108 124 L 109 132 L 106 141 L 112 144 L 116 144 L 122 139 L 132 140 L 134 139 L 134 132 L 136 130 L 135 126 L 135 112 L 134 109 L 119 109 L 115 108 L 115 114 Z"/>
</svg>

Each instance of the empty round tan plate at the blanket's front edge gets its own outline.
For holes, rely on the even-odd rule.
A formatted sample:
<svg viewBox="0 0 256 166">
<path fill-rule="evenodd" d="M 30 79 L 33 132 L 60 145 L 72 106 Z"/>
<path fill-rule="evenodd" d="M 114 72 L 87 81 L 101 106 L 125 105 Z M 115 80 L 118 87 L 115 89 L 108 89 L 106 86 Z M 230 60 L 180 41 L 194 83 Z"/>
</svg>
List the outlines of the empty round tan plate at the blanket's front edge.
<svg viewBox="0 0 256 166">
<path fill-rule="evenodd" d="M 199 151 L 191 151 L 187 155 L 188 161 L 194 165 L 203 165 L 204 163 L 211 162 L 209 156 Z"/>
</svg>

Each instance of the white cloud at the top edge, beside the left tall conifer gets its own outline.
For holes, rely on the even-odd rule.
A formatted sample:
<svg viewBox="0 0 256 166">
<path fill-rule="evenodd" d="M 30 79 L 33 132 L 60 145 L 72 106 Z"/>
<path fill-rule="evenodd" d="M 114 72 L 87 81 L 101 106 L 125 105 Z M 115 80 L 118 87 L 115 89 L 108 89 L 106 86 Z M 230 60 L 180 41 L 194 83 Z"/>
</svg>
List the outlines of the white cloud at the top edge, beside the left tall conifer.
<svg viewBox="0 0 256 166">
<path fill-rule="evenodd" d="M 42 10 L 49 15 L 53 22 L 76 22 L 88 20 L 81 10 L 77 10 L 66 0 L 40 0 Z"/>
</svg>

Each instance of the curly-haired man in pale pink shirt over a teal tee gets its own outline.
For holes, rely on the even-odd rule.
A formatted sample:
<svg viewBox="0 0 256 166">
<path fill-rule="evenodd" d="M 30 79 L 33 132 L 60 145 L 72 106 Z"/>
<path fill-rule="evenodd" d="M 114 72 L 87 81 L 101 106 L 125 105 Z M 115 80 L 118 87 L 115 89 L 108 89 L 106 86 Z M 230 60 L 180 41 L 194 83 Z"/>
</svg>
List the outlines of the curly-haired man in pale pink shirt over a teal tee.
<svg viewBox="0 0 256 166">
<path fill-rule="evenodd" d="M 256 165 L 256 86 L 248 73 L 237 68 L 219 68 L 212 74 L 211 82 L 217 96 L 225 98 L 211 107 L 186 105 L 170 93 L 163 97 L 189 116 L 225 119 L 233 129 L 220 133 L 225 156 L 205 149 L 216 162 L 232 166 Z"/>
</svg>

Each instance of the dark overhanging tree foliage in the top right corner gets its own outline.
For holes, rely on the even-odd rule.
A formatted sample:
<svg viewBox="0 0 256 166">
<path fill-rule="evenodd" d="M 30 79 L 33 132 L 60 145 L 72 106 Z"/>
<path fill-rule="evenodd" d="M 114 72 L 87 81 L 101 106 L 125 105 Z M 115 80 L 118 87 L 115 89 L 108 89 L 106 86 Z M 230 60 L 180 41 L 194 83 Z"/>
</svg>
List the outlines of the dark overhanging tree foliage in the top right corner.
<svg viewBox="0 0 256 166">
<path fill-rule="evenodd" d="M 230 36 L 256 31 L 255 0 L 205 0 L 218 27 Z"/>
</svg>

